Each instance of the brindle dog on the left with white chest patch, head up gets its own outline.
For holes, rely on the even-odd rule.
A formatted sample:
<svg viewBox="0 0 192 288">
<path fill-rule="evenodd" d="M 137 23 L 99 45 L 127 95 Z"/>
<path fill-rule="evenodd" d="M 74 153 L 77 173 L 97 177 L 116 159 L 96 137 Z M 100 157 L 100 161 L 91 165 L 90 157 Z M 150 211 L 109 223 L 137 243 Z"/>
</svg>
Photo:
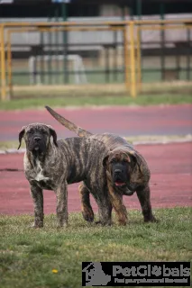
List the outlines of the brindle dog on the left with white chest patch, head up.
<svg viewBox="0 0 192 288">
<path fill-rule="evenodd" d="M 57 196 L 59 226 L 68 223 L 68 184 L 84 181 L 99 208 L 100 222 L 111 224 L 111 202 L 108 200 L 105 168 L 105 145 L 96 139 L 78 137 L 60 139 L 49 125 L 32 123 L 19 133 L 21 147 L 25 140 L 24 173 L 30 183 L 34 204 L 33 227 L 43 226 L 42 190 L 53 190 Z M 95 153 L 90 153 L 95 151 Z M 101 157 L 97 157 L 100 155 Z"/>
</svg>

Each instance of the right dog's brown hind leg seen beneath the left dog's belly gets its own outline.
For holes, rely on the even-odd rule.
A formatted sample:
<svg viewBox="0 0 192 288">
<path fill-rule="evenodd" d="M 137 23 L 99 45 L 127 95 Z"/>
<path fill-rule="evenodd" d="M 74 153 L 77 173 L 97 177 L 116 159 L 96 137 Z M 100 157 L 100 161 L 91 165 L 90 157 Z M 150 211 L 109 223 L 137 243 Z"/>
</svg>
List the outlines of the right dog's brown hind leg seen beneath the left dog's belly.
<svg viewBox="0 0 192 288">
<path fill-rule="evenodd" d="M 80 195 L 83 218 L 85 220 L 87 220 L 88 222 L 93 222 L 94 211 L 91 207 L 90 192 L 87 188 L 87 185 L 84 182 L 80 183 L 78 186 L 78 191 L 79 191 L 79 195 Z"/>
</svg>

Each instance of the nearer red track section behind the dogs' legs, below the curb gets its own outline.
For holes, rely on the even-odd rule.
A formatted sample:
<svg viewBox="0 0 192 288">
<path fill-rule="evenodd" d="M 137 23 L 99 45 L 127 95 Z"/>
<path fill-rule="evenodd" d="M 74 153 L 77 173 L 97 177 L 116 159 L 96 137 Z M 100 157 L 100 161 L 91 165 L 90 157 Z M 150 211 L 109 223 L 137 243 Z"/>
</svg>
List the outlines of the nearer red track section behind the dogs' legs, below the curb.
<svg viewBox="0 0 192 288">
<path fill-rule="evenodd" d="M 192 142 L 138 145 L 151 167 L 153 208 L 192 206 Z M 19 169 L 19 171 L 7 171 Z M 21 170 L 20 170 L 21 169 Z M 23 154 L 0 155 L 0 213 L 32 213 L 29 184 L 23 174 Z M 94 210 L 96 203 L 92 200 Z M 128 209 L 140 209 L 136 195 L 124 197 Z M 56 197 L 44 192 L 45 213 L 56 210 Z M 69 212 L 80 211 L 78 184 L 69 185 Z"/>
</svg>

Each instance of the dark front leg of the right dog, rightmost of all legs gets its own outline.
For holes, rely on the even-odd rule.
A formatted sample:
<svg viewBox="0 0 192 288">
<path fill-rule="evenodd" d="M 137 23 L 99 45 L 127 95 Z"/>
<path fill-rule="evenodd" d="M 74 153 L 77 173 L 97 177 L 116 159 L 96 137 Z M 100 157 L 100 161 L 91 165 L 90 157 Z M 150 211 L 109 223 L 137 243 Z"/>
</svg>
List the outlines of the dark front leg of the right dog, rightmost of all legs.
<svg viewBox="0 0 192 288">
<path fill-rule="evenodd" d="M 145 188 L 137 188 L 137 197 L 142 206 L 142 214 L 145 222 L 156 222 L 158 220 L 152 215 L 151 199 L 150 199 L 150 186 L 147 185 Z"/>
</svg>

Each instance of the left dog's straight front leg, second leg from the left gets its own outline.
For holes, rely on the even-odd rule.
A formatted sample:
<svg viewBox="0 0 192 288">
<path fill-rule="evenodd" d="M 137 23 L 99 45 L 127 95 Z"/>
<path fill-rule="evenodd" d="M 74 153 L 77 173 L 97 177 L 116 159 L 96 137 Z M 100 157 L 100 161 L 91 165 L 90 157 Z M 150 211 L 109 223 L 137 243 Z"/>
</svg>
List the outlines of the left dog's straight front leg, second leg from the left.
<svg viewBox="0 0 192 288">
<path fill-rule="evenodd" d="M 56 189 L 58 227 L 68 225 L 68 184 L 62 181 Z"/>
</svg>

